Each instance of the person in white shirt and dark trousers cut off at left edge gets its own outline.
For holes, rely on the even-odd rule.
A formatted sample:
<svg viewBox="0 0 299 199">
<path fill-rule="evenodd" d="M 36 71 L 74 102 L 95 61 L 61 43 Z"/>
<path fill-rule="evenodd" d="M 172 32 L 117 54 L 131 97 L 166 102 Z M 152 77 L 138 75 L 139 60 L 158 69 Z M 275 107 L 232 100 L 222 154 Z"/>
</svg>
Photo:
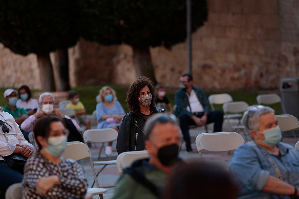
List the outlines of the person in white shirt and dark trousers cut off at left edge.
<svg viewBox="0 0 299 199">
<path fill-rule="evenodd" d="M 0 107 L 0 199 L 5 197 L 10 185 L 23 179 L 22 172 L 10 168 L 3 157 L 19 153 L 29 158 L 34 151 L 34 146 L 25 140 L 13 116 Z"/>
</svg>

